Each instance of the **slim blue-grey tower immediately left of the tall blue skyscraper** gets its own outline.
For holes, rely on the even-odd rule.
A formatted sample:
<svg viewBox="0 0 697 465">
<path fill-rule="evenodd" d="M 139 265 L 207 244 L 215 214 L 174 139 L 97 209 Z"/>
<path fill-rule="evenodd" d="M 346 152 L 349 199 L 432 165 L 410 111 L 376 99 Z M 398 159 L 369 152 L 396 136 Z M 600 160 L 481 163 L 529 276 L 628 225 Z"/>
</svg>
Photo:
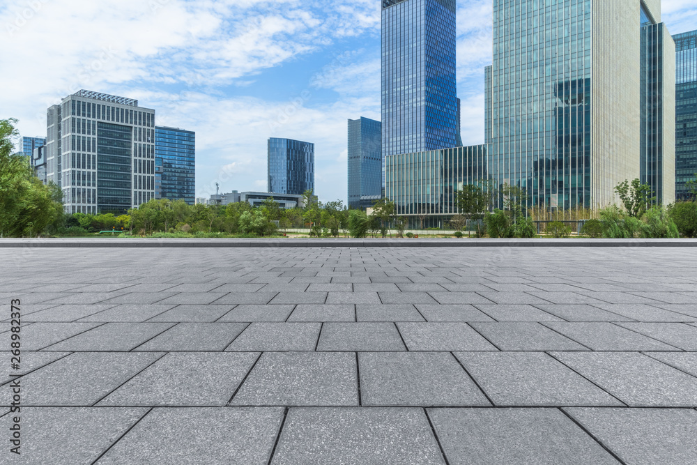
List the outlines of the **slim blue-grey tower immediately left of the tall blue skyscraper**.
<svg viewBox="0 0 697 465">
<path fill-rule="evenodd" d="M 348 206 L 361 197 L 381 196 L 385 186 L 381 123 L 361 117 L 348 120 Z"/>
</svg>

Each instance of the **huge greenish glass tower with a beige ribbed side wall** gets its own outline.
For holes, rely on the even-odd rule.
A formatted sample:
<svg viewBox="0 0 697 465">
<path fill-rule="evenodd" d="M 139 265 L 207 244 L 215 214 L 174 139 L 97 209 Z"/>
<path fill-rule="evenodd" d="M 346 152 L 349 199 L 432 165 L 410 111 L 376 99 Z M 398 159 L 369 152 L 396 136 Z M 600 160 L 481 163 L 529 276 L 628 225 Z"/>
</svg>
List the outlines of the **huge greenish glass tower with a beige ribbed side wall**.
<svg viewBox="0 0 697 465">
<path fill-rule="evenodd" d="M 634 178 L 672 201 L 672 47 L 660 0 L 495 0 L 493 181 L 546 208 L 613 204 Z"/>
</svg>

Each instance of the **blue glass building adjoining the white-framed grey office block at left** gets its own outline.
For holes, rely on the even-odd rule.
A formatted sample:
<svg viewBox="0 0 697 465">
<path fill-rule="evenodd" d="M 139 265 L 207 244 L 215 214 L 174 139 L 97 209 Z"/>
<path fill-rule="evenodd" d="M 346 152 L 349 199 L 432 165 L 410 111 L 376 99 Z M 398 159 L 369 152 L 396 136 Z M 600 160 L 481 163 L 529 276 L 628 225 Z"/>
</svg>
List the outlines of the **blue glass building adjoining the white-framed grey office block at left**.
<svg viewBox="0 0 697 465">
<path fill-rule="evenodd" d="M 155 128 L 155 199 L 196 197 L 196 133 L 179 128 Z"/>
</svg>

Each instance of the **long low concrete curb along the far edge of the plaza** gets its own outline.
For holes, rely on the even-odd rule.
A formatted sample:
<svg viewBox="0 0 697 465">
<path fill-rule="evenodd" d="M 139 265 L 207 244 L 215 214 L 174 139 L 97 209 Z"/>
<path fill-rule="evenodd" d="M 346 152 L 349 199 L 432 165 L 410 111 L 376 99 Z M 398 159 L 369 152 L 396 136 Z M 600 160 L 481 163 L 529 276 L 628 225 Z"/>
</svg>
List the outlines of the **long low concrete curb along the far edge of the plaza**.
<svg viewBox="0 0 697 465">
<path fill-rule="evenodd" d="M 17 247 L 697 247 L 697 239 L 0 239 L 0 248 Z"/>
</svg>

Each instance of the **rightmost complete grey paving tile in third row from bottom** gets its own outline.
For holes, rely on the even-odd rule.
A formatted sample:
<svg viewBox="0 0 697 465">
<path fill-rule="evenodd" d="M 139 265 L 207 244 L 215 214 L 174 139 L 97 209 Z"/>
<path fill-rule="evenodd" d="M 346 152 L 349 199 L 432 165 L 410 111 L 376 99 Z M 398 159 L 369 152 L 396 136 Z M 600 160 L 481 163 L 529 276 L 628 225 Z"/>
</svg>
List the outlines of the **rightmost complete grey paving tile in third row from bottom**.
<svg viewBox="0 0 697 465">
<path fill-rule="evenodd" d="M 613 323 L 545 322 L 543 324 L 594 351 L 675 351 L 675 346 L 664 344 Z"/>
</svg>

